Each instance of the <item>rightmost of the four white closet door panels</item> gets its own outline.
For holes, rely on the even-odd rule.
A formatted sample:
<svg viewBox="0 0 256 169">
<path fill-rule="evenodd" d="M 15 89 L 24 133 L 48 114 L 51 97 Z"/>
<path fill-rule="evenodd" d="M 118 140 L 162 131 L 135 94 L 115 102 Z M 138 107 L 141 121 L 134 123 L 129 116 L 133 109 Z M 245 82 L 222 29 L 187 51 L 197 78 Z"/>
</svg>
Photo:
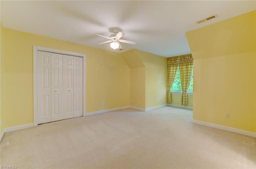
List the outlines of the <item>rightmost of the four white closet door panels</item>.
<svg viewBox="0 0 256 169">
<path fill-rule="evenodd" d="M 74 117 L 83 115 L 83 58 L 74 57 Z"/>
</svg>

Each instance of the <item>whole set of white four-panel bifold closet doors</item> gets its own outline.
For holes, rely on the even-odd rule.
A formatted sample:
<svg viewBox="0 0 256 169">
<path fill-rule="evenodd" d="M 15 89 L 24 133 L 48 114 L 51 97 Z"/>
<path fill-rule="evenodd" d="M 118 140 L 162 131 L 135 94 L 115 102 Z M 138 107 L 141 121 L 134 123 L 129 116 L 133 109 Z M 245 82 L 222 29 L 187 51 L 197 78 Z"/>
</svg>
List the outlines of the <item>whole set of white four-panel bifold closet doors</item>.
<svg viewBox="0 0 256 169">
<path fill-rule="evenodd" d="M 38 51 L 38 124 L 82 116 L 83 58 Z"/>
</svg>

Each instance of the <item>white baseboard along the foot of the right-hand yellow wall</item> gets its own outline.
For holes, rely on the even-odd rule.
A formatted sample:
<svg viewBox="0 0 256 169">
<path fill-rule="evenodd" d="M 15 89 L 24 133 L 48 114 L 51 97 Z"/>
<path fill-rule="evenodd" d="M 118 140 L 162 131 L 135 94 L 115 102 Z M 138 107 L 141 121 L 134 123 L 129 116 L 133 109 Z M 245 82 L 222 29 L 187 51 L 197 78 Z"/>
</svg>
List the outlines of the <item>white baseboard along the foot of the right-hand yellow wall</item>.
<svg viewBox="0 0 256 169">
<path fill-rule="evenodd" d="M 228 132 L 244 134 L 246 136 L 251 136 L 251 137 L 256 138 L 256 133 L 254 133 L 254 132 L 248 132 L 248 131 L 240 130 L 240 129 L 237 129 L 237 128 L 231 128 L 231 127 L 222 126 L 222 125 L 219 125 L 219 124 L 208 123 L 208 122 L 203 122 L 203 121 L 199 121 L 199 120 L 193 120 L 192 122 L 195 123 L 195 124 L 200 124 L 200 125 L 203 125 L 203 126 L 217 128 L 217 129 L 220 129 L 220 130 L 226 130 Z"/>
</svg>

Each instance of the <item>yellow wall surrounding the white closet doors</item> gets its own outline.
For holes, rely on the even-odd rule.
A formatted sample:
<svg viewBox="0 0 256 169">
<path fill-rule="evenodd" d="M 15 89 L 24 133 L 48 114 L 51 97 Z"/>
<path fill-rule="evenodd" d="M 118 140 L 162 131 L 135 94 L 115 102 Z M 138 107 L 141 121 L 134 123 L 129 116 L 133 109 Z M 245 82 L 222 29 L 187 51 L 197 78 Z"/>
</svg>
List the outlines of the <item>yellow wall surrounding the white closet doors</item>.
<svg viewBox="0 0 256 169">
<path fill-rule="evenodd" d="M 130 70 L 120 54 L 6 28 L 1 41 L 2 130 L 33 123 L 32 45 L 86 54 L 86 112 L 130 105 Z"/>
</svg>

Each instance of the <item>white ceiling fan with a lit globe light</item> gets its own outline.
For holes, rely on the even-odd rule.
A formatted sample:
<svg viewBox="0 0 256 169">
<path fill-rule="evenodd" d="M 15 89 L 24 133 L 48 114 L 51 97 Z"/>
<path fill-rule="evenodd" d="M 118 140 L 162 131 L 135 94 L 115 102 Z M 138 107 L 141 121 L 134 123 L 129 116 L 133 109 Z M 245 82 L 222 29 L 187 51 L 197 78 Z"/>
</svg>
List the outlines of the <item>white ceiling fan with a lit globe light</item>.
<svg viewBox="0 0 256 169">
<path fill-rule="evenodd" d="M 107 37 L 107 36 L 104 36 L 104 35 L 100 35 L 100 34 L 95 34 L 95 35 L 97 35 L 97 36 L 105 37 L 105 38 L 107 38 L 107 39 L 110 39 L 109 41 L 104 41 L 104 42 L 102 42 L 102 43 L 99 43 L 99 45 L 112 42 L 112 43 L 110 43 L 110 47 L 111 47 L 112 49 L 118 49 L 118 48 L 122 48 L 122 46 L 121 46 L 121 44 L 120 44 L 119 42 L 122 42 L 122 43 L 129 43 L 129 44 L 132 44 L 132 45 L 135 44 L 134 41 L 128 41 L 128 40 L 120 39 L 122 36 L 125 35 L 124 32 L 118 31 L 117 29 L 112 29 L 112 32 L 113 32 L 114 34 L 110 35 L 110 37 Z"/>
</svg>

